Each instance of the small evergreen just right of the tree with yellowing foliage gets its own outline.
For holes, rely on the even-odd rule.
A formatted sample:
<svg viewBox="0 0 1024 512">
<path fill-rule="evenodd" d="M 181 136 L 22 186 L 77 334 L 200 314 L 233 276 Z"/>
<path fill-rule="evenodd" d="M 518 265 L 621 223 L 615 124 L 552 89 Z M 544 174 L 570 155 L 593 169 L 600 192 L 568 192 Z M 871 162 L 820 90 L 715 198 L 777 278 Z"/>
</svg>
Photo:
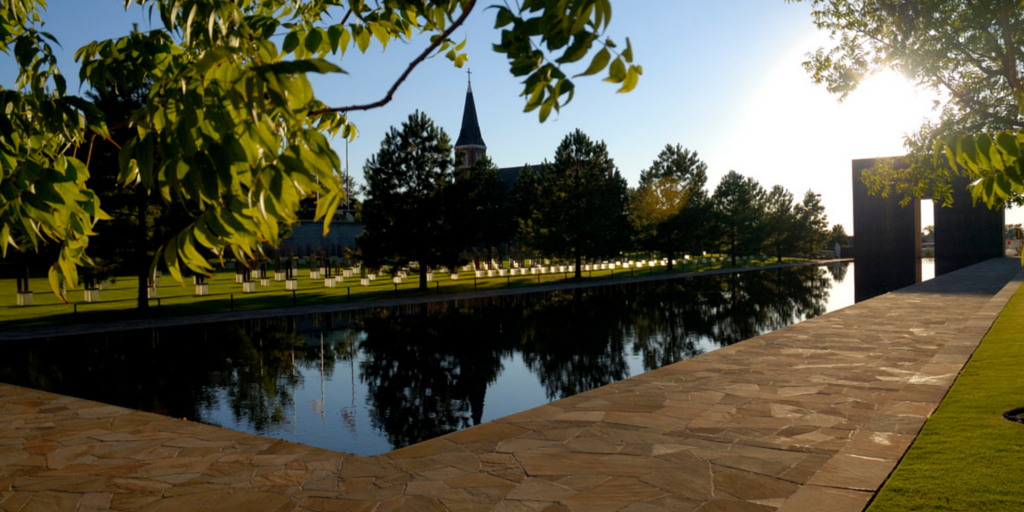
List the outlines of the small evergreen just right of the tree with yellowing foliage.
<svg viewBox="0 0 1024 512">
<path fill-rule="evenodd" d="M 729 171 L 715 188 L 715 213 L 720 223 L 720 247 L 736 265 L 736 255 L 753 254 L 764 242 L 765 191 L 754 178 Z"/>
</svg>

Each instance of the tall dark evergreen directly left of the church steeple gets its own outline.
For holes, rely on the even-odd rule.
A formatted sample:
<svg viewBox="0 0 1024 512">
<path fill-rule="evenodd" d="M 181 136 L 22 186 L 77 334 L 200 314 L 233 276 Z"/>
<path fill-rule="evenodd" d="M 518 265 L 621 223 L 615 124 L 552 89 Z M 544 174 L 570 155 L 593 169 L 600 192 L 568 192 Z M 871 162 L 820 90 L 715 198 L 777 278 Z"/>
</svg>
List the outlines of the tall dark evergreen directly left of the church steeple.
<svg viewBox="0 0 1024 512">
<path fill-rule="evenodd" d="M 426 114 L 416 112 L 391 127 L 381 148 L 362 168 L 367 180 L 358 237 L 367 266 L 420 263 L 420 290 L 427 266 L 450 263 L 466 247 L 459 229 L 452 141 Z"/>
</svg>

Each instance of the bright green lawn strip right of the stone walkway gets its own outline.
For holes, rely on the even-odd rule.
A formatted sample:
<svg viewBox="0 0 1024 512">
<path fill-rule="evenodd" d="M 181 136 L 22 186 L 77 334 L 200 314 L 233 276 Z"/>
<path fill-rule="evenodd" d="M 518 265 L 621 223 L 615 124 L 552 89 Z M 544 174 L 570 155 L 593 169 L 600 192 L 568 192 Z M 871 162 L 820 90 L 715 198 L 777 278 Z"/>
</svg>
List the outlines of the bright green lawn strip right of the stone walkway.
<svg viewBox="0 0 1024 512">
<path fill-rule="evenodd" d="M 1024 510 L 1024 288 L 925 424 L 869 512 Z"/>
</svg>

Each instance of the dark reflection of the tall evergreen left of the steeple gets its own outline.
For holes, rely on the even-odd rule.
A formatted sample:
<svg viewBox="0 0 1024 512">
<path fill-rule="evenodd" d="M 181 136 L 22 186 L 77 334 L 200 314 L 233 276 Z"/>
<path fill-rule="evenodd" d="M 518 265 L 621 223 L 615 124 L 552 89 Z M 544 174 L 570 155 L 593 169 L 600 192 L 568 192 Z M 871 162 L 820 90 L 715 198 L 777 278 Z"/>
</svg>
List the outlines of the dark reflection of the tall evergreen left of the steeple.
<svg viewBox="0 0 1024 512">
<path fill-rule="evenodd" d="M 509 353 L 502 311 L 362 321 L 371 421 L 394 447 L 477 425 L 487 386 Z"/>
</svg>

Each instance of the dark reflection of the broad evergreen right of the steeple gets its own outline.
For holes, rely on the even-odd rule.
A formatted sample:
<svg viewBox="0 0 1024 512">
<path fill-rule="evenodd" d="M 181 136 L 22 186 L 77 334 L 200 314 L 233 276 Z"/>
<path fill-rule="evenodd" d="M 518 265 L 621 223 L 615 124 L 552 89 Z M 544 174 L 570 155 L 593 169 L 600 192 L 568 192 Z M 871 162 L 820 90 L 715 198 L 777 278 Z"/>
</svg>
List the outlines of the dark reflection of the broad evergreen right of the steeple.
<svg viewBox="0 0 1024 512">
<path fill-rule="evenodd" d="M 618 293 L 556 292 L 527 308 L 518 332 L 519 349 L 548 399 L 629 377 L 624 356 L 629 318 L 629 305 Z"/>
</svg>

